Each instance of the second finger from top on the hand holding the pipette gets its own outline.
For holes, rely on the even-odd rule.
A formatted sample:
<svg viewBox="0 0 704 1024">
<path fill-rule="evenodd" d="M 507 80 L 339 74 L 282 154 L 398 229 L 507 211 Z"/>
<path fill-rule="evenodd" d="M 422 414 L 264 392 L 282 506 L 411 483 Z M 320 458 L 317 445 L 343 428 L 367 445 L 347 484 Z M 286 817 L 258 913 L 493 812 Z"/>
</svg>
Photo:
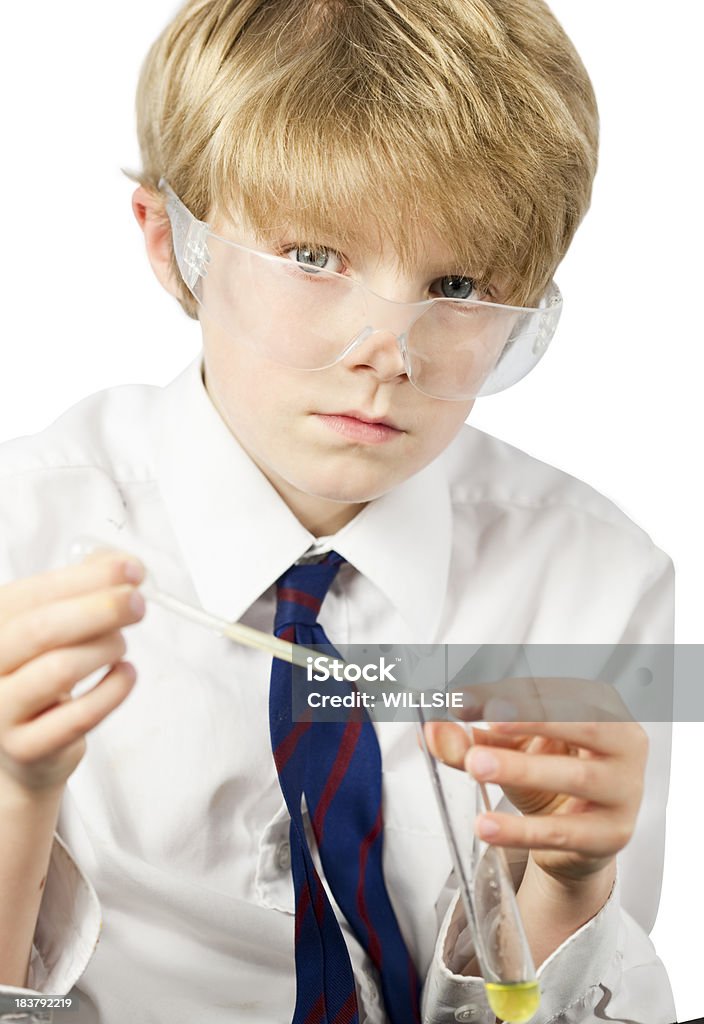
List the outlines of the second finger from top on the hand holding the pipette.
<svg viewBox="0 0 704 1024">
<path fill-rule="evenodd" d="M 54 647 L 113 633 L 143 615 L 144 599 L 129 584 L 25 611 L 0 629 L 0 675 Z"/>
</svg>

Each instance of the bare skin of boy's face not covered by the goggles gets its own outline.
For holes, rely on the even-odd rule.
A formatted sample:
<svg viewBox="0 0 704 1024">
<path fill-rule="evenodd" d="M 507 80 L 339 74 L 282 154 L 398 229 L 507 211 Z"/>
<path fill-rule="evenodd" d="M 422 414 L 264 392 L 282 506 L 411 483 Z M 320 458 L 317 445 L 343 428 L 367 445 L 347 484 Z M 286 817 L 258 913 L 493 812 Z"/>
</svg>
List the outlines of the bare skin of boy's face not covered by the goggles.
<svg viewBox="0 0 704 1024">
<path fill-rule="evenodd" d="M 264 248 L 239 224 L 219 222 L 213 229 L 250 248 Z M 281 253 L 290 238 L 282 232 L 281 247 L 268 251 Z M 454 272 L 447 248 L 426 236 L 423 254 L 405 273 L 385 249 L 351 252 L 338 248 L 337 240 L 324 240 L 326 246 L 334 243 L 344 257 L 331 257 L 331 269 L 361 279 L 397 301 L 437 294 L 433 284 Z M 296 250 L 288 255 L 300 259 Z M 265 309 L 261 313 L 270 315 Z M 225 332 L 203 310 L 201 324 L 211 399 L 292 511 L 317 536 L 340 529 L 366 502 L 432 462 L 474 404 L 417 391 L 388 331 L 371 335 L 335 366 L 308 371 L 257 351 L 236 324 Z"/>
</svg>

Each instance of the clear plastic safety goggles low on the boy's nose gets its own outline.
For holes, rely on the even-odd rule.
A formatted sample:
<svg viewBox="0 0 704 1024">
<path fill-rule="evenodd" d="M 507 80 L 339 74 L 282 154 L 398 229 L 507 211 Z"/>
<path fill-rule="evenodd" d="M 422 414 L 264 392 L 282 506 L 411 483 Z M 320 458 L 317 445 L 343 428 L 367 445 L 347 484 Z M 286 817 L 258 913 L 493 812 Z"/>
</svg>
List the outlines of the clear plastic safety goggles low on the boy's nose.
<svg viewBox="0 0 704 1024">
<path fill-rule="evenodd" d="M 324 370 L 377 332 L 391 332 L 419 391 L 467 400 L 525 377 L 558 326 L 555 283 L 536 308 L 465 298 L 396 302 L 361 281 L 223 239 L 164 179 L 160 189 L 181 276 L 207 317 L 284 366 Z"/>
</svg>

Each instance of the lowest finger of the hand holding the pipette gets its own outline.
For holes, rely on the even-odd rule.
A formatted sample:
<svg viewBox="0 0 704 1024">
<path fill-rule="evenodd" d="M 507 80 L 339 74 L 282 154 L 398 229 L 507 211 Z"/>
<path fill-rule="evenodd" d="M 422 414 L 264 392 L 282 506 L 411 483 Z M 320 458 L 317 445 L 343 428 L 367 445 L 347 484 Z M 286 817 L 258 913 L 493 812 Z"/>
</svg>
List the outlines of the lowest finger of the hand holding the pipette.
<svg viewBox="0 0 704 1024">
<path fill-rule="evenodd" d="M 20 764 L 29 764 L 76 742 L 122 703 L 136 676 L 133 665 L 120 662 L 88 693 L 8 729 L 5 753 Z"/>
</svg>

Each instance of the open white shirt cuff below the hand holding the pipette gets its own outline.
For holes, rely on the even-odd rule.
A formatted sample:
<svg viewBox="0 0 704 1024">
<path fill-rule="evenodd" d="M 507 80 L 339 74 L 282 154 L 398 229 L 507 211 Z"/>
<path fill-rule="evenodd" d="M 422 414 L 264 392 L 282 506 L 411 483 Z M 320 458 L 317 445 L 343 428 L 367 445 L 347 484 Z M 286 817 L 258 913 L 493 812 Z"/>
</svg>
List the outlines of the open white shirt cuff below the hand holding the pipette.
<svg viewBox="0 0 704 1024">
<path fill-rule="evenodd" d="M 0 985 L 0 993 L 67 995 L 95 952 L 100 928 L 100 904 L 95 890 L 65 844 L 54 834 L 32 945 L 28 987 Z"/>
</svg>

